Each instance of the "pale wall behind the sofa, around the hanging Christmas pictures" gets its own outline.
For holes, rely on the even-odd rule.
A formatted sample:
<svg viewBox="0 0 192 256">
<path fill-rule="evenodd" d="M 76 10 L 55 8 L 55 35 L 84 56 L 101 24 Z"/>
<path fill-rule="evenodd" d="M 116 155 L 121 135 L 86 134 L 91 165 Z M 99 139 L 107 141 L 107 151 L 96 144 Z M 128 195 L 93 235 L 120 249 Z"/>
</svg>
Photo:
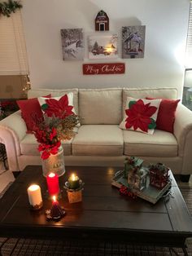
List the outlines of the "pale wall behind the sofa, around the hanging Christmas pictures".
<svg viewBox="0 0 192 256">
<path fill-rule="evenodd" d="M 23 6 L 32 88 L 176 87 L 181 96 L 189 0 L 25 0 Z M 118 34 L 114 60 L 88 59 L 100 10 L 110 19 L 109 33 Z M 146 25 L 143 59 L 121 59 L 121 29 L 129 25 Z M 84 29 L 84 60 L 63 61 L 60 29 Z M 82 64 L 101 62 L 124 62 L 125 73 L 83 75 Z"/>
</svg>

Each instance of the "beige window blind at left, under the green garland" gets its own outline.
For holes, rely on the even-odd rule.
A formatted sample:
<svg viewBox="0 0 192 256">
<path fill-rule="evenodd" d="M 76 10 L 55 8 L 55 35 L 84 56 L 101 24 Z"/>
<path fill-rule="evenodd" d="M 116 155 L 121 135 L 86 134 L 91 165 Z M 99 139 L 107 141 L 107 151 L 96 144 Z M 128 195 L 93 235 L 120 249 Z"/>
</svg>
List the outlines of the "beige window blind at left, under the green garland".
<svg viewBox="0 0 192 256">
<path fill-rule="evenodd" d="M 28 58 L 20 10 L 0 15 L 0 75 L 28 74 Z"/>
</svg>

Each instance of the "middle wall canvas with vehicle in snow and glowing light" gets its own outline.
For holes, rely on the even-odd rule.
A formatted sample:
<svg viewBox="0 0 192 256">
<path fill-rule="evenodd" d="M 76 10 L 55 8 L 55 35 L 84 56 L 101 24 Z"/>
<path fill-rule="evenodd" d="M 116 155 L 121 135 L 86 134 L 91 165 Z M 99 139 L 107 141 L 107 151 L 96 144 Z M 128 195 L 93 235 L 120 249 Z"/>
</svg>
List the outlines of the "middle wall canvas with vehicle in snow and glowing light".
<svg viewBox="0 0 192 256">
<path fill-rule="evenodd" d="M 94 35 L 88 38 L 89 59 L 111 59 L 118 57 L 117 35 Z"/>
</svg>

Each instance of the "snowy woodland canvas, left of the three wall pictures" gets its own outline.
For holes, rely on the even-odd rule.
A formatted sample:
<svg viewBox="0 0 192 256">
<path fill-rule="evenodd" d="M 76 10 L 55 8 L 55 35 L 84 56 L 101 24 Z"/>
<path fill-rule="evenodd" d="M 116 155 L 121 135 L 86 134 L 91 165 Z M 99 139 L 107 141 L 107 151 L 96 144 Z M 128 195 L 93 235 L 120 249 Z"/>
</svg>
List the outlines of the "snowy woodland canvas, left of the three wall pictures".
<svg viewBox="0 0 192 256">
<path fill-rule="evenodd" d="M 83 29 L 61 29 L 63 60 L 84 59 Z"/>
</svg>

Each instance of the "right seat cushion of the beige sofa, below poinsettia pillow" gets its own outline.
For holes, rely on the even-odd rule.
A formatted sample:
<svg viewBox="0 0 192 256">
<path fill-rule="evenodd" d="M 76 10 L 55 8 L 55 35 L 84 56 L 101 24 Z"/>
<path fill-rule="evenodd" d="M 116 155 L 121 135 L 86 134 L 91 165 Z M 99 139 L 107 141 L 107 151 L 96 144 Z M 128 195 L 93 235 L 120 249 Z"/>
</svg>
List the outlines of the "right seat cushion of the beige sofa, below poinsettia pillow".
<svg viewBox="0 0 192 256">
<path fill-rule="evenodd" d="M 146 135 L 133 130 L 124 130 L 124 155 L 147 157 L 177 157 L 177 139 L 164 130 L 155 130 Z"/>
</svg>

